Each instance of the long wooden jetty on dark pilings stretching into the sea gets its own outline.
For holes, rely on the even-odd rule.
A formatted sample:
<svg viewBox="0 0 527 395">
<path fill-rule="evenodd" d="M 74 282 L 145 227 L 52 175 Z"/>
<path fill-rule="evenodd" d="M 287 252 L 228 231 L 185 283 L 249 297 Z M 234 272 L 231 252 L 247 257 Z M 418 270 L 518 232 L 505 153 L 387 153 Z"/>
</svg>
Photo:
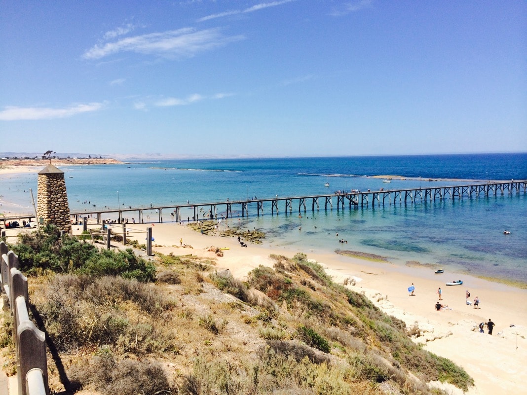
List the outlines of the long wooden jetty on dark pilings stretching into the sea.
<svg viewBox="0 0 527 395">
<path fill-rule="evenodd" d="M 187 203 L 187 204 L 176 204 L 176 205 L 151 205 L 147 207 L 128 207 L 122 209 L 106 209 L 106 210 L 72 210 L 71 215 L 75 216 L 75 221 L 78 223 L 82 218 L 87 215 L 96 216 L 97 223 L 102 223 L 103 217 L 107 217 L 109 214 L 118 214 L 118 223 L 123 222 L 126 214 L 129 216 L 137 213 L 137 222 L 144 223 L 144 212 L 157 211 L 159 223 L 163 222 L 163 210 L 167 212 L 170 210 L 173 221 L 186 221 L 186 220 L 208 220 L 217 218 L 232 218 L 233 206 L 241 209 L 241 216 L 249 216 L 249 206 L 254 207 L 256 205 L 256 215 L 264 214 L 264 207 L 270 206 L 271 215 L 279 214 L 283 212 L 288 215 L 292 214 L 293 208 L 298 207 L 298 215 L 302 212 L 306 212 L 309 209 L 311 211 L 320 210 L 322 204 L 324 210 L 333 210 L 334 203 L 337 210 L 344 210 L 346 206 L 349 209 L 358 208 L 372 208 L 385 206 L 387 204 L 414 204 L 418 202 L 434 202 L 444 201 L 447 199 L 463 199 L 477 198 L 480 196 L 499 196 L 499 195 L 512 195 L 527 193 L 527 180 L 511 180 L 511 181 L 499 181 L 499 182 L 480 182 L 476 184 L 465 184 L 465 185 L 452 185 L 452 186 L 431 186 L 431 187 L 419 187 L 412 189 L 398 189 L 388 190 L 379 189 L 376 191 L 352 191 L 352 192 L 336 192 L 332 194 L 323 195 L 311 195 L 311 196 L 288 196 L 288 197 L 272 197 L 270 199 L 249 199 L 249 200 L 235 200 L 229 201 L 218 201 L 218 202 L 207 202 L 207 203 Z M 221 212 L 225 215 L 218 215 L 218 208 L 225 208 Z M 181 210 L 186 209 L 187 211 L 193 212 L 192 218 L 187 216 L 183 218 Z M 200 209 L 209 209 L 207 215 L 199 218 Z M 13 214 L 13 216 L 4 217 L 2 221 L 13 221 L 21 218 L 27 218 L 31 221 L 35 218 L 34 215 L 28 214 Z M 147 222 L 155 222 L 148 219 Z"/>
</svg>

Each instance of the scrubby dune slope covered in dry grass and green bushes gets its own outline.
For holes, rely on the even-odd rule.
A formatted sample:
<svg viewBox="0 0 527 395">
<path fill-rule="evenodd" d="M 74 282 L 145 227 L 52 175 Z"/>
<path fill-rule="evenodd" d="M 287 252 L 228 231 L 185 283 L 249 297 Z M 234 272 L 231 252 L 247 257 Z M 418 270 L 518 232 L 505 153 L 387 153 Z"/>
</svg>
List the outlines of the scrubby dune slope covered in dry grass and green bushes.
<svg viewBox="0 0 527 395">
<path fill-rule="evenodd" d="M 305 254 L 272 256 L 274 268 L 241 281 L 195 255 L 147 261 L 52 227 L 10 248 L 29 276 L 57 392 L 440 394 L 428 382 L 473 384 Z M 6 313 L 2 332 L 9 350 Z"/>
</svg>

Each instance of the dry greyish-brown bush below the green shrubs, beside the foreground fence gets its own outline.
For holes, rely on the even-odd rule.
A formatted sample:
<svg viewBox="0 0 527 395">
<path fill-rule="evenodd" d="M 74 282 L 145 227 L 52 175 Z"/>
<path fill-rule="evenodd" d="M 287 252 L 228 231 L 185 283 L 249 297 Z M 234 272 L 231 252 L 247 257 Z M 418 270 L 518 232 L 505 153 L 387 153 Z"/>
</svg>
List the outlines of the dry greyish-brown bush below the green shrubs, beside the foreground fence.
<svg viewBox="0 0 527 395">
<path fill-rule="evenodd" d="M 111 276 L 55 275 L 33 294 L 32 302 L 58 350 L 119 341 L 118 347 L 136 354 L 177 351 L 160 321 L 172 304 L 148 284 Z M 132 313 L 123 307 L 130 309 L 130 304 Z"/>
</svg>

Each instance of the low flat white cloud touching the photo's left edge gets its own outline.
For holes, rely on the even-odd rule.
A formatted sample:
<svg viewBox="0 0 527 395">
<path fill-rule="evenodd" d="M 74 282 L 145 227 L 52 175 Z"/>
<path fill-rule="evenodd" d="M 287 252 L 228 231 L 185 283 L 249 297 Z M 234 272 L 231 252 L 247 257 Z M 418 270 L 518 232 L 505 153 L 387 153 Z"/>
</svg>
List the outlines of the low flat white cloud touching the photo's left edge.
<svg viewBox="0 0 527 395">
<path fill-rule="evenodd" d="M 14 107 L 8 106 L 0 111 L 0 121 L 51 120 L 67 118 L 77 114 L 100 110 L 103 103 L 75 104 L 65 108 Z"/>
</svg>

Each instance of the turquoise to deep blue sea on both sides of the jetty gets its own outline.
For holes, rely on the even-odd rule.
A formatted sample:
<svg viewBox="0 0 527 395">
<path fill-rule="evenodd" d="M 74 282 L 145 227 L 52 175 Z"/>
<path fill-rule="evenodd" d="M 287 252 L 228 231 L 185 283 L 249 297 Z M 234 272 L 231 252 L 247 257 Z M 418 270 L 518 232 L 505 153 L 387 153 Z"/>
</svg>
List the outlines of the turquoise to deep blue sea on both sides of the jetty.
<svg viewBox="0 0 527 395">
<path fill-rule="evenodd" d="M 272 197 L 327 194 L 334 191 L 404 189 L 460 185 L 473 180 L 527 179 L 527 153 L 350 156 L 287 159 L 170 160 L 123 165 L 62 166 L 70 209 L 118 206 L 176 205 Z M 401 175 L 405 180 L 383 183 L 374 175 Z M 440 180 L 443 179 L 443 180 Z M 453 181 L 470 180 L 470 181 Z M 36 173 L 0 178 L 4 211 L 32 210 Z M 432 180 L 432 181 L 431 181 Z M 329 182 L 330 186 L 324 184 Z M 16 208 L 8 204 L 16 203 Z M 282 202 L 282 204 L 284 204 Z M 295 204 L 295 202 L 294 202 Z M 296 204 L 298 204 L 296 202 Z M 446 199 L 404 204 L 392 202 L 372 209 L 324 210 L 298 216 L 271 215 L 270 203 L 240 224 L 266 232 L 266 243 L 291 250 L 346 249 L 387 256 L 396 264 L 417 261 L 456 271 L 527 282 L 527 195 L 505 194 L 472 199 Z M 1 211 L 2 208 L 0 208 Z M 218 206 L 219 214 L 225 206 Z M 233 205 L 233 217 L 240 215 Z M 302 210 L 303 211 L 303 210 Z M 145 212 L 148 215 L 148 211 Z M 192 218 L 192 212 L 182 216 Z M 157 219 L 157 214 L 151 213 Z M 164 222 L 171 221 L 169 213 Z M 237 219 L 236 219 L 237 221 Z M 238 222 L 238 221 L 237 221 Z M 300 230 L 301 228 L 301 230 Z M 504 235 L 504 230 L 510 235 Z M 336 235 L 338 233 L 338 236 Z M 341 244 L 339 239 L 347 240 Z"/>
</svg>

